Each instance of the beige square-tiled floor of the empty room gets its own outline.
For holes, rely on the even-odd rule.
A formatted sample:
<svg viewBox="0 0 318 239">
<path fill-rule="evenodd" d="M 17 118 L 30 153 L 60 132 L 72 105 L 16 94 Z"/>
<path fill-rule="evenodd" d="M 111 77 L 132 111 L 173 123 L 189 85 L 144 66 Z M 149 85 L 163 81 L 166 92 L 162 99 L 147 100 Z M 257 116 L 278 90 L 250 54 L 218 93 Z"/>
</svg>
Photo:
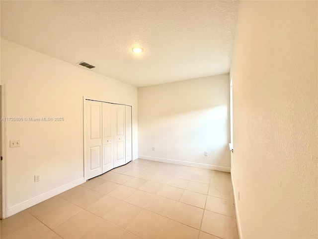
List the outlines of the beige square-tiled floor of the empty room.
<svg viewBox="0 0 318 239">
<path fill-rule="evenodd" d="M 1 220 L 2 239 L 238 239 L 231 174 L 137 159 Z"/>
</svg>

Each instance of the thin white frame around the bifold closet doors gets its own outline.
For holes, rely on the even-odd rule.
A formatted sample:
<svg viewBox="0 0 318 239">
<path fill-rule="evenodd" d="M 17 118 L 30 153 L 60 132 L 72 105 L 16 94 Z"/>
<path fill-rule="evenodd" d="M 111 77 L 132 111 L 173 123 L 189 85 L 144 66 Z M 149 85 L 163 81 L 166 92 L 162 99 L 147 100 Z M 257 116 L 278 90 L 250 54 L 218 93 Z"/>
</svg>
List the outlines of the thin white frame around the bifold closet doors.
<svg viewBox="0 0 318 239">
<path fill-rule="evenodd" d="M 123 102 L 109 102 L 105 99 L 96 99 L 95 97 L 86 97 L 83 96 L 83 177 L 84 180 L 88 180 L 88 175 L 87 175 L 87 165 L 86 165 L 86 101 L 98 101 L 98 102 L 104 102 L 104 103 L 109 103 L 109 104 L 115 104 L 115 105 L 123 105 L 123 106 L 130 106 L 132 109 L 133 107 L 131 105 L 127 105 Z M 131 113 L 133 115 L 133 112 Z M 132 122 L 133 123 L 133 122 Z M 132 149 L 133 152 L 133 149 Z M 133 153 L 132 153 L 133 155 Z"/>
</svg>

